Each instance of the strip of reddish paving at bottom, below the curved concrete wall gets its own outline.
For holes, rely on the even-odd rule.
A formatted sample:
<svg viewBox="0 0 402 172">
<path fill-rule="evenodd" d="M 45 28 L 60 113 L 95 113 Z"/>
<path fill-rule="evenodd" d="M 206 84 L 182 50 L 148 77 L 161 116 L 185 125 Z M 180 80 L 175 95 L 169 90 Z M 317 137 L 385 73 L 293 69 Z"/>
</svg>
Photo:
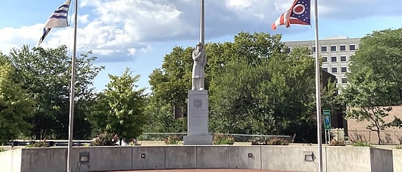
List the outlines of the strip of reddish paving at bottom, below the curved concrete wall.
<svg viewBox="0 0 402 172">
<path fill-rule="evenodd" d="M 120 171 L 120 172 L 291 172 L 291 171 L 269 171 L 269 170 L 247 170 L 247 169 L 177 169 L 177 170 L 136 170 L 136 171 Z"/>
</svg>

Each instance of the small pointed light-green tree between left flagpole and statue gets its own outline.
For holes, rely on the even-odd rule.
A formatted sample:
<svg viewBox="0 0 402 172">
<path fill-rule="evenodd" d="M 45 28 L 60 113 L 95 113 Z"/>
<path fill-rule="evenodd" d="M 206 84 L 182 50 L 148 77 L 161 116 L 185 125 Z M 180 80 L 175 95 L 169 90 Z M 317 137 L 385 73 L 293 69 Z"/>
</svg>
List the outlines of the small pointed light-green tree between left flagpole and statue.
<svg viewBox="0 0 402 172">
<path fill-rule="evenodd" d="M 122 76 L 109 75 L 111 81 L 98 95 L 93 111 L 87 120 L 98 132 L 107 131 L 131 140 L 144 130 L 148 116 L 144 114 L 144 88 L 137 88 L 139 75 L 132 76 L 126 69 Z"/>
</svg>

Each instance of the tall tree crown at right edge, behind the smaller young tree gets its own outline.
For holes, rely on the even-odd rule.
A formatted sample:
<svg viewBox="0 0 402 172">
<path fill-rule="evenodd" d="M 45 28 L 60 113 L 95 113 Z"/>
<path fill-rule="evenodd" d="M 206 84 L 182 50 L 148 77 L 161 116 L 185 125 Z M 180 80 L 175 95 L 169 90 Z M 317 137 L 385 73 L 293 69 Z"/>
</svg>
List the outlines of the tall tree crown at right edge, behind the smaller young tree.
<svg viewBox="0 0 402 172">
<path fill-rule="evenodd" d="M 402 28 L 384 29 L 361 38 L 359 50 L 350 59 L 353 73 L 369 68 L 386 82 L 399 86 L 398 97 L 390 105 L 400 104 L 402 99 Z"/>
</svg>

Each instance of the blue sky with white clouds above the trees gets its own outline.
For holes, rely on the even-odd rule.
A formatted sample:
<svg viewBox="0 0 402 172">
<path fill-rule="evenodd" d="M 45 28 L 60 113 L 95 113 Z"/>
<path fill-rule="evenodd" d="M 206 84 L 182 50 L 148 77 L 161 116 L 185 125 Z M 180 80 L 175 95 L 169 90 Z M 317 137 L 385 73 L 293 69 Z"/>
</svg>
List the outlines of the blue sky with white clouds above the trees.
<svg viewBox="0 0 402 172">
<path fill-rule="evenodd" d="M 311 26 L 271 24 L 293 0 L 205 0 L 205 42 L 232 42 L 238 32 L 282 34 L 282 41 L 314 40 L 314 1 Z M 375 30 L 402 27 L 400 0 L 317 0 L 319 38 L 361 38 Z M 65 0 L 13 0 L 0 5 L 0 51 L 36 46 L 43 25 Z M 154 69 L 175 46 L 199 42 L 199 0 L 79 0 L 77 51 L 92 51 L 96 66 L 105 66 L 94 80 L 97 91 L 108 74 L 122 75 L 126 67 L 140 75 L 137 85 L 148 88 Z M 73 23 L 74 0 L 69 9 Z M 52 29 L 42 47 L 73 47 L 74 28 Z M 72 54 L 72 50 L 69 51 Z M 208 53 L 208 52 L 207 52 Z M 189 54 L 189 58 L 191 55 Z"/>
</svg>

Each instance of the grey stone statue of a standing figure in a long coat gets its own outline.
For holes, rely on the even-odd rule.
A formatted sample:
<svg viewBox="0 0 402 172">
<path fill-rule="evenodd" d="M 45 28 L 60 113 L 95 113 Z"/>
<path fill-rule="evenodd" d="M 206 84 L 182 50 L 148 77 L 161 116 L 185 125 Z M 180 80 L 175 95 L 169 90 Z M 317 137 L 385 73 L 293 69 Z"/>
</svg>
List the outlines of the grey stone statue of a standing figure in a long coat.
<svg viewBox="0 0 402 172">
<path fill-rule="evenodd" d="M 199 42 L 196 46 L 196 49 L 192 51 L 192 60 L 194 60 L 194 64 L 192 65 L 191 90 L 204 90 L 204 67 L 207 62 L 207 57 L 205 55 L 205 50 L 201 42 Z"/>
</svg>

